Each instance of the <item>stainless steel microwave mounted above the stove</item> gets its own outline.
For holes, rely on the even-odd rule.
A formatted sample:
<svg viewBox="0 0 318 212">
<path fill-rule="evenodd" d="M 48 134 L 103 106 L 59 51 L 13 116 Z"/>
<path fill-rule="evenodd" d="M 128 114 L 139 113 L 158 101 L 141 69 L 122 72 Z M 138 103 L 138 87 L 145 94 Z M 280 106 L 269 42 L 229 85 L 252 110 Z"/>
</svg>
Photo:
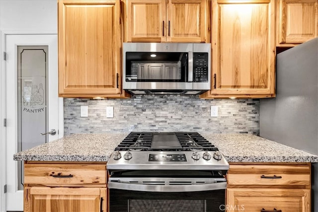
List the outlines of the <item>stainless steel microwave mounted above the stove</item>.
<svg viewBox="0 0 318 212">
<path fill-rule="evenodd" d="M 210 80 L 210 43 L 123 44 L 123 88 L 133 94 L 200 94 Z"/>
</svg>

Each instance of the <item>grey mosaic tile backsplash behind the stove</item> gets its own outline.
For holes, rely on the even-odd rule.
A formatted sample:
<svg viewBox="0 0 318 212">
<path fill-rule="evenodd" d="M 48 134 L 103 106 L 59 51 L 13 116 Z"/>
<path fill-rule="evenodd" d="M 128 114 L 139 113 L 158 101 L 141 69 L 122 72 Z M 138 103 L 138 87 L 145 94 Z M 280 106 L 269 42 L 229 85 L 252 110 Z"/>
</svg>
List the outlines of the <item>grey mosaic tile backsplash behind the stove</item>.
<svg viewBox="0 0 318 212">
<path fill-rule="evenodd" d="M 80 117 L 88 106 L 88 117 Z M 106 107 L 114 118 L 106 118 Z M 218 117 L 210 107 L 218 106 Z M 64 134 L 130 131 L 196 131 L 259 135 L 258 99 L 213 99 L 197 96 L 134 96 L 131 99 L 64 98 Z"/>
</svg>

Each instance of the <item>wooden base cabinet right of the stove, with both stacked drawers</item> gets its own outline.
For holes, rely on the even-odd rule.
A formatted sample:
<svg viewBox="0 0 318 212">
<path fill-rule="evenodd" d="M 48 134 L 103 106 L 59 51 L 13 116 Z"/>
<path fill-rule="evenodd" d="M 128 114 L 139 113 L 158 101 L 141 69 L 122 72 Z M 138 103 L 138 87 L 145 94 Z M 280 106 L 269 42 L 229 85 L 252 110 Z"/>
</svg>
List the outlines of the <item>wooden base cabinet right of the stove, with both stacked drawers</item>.
<svg viewBox="0 0 318 212">
<path fill-rule="evenodd" d="M 230 164 L 227 177 L 228 212 L 311 211 L 310 164 Z"/>
</svg>

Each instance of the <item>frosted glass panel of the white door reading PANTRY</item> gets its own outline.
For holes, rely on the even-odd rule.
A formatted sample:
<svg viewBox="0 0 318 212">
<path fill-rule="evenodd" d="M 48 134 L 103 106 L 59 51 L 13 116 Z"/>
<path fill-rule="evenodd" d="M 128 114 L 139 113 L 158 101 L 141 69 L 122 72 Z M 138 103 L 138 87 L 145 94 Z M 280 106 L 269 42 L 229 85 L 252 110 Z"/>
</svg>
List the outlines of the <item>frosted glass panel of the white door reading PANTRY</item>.
<svg viewBox="0 0 318 212">
<path fill-rule="evenodd" d="M 17 47 L 18 151 L 46 143 L 48 135 L 48 46 Z M 19 164 L 19 189 L 23 166 Z"/>
</svg>

